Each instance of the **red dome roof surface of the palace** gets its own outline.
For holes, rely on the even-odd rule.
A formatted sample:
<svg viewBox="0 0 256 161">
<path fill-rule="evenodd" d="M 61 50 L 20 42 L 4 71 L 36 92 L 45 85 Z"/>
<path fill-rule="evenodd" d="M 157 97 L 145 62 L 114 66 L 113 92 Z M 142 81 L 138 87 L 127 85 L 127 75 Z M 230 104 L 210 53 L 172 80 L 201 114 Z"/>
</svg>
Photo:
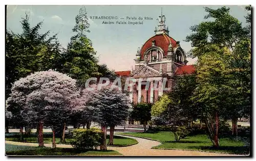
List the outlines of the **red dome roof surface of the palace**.
<svg viewBox="0 0 256 161">
<path fill-rule="evenodd" d="M 143 54 L 144 52 L 152 47 L 152 41 L 155 40 L 155 45 L 157 47 L 160 47 L 163 51 L 164 51 L 164 56 L 167 55 L 167 51 L 168 51 L 168 45 L 170 42 L 172 42 L 173 44 L 173 48 L 176 47 L 176 41 L 168 36 L 167 34 L 161 34 L 161 35 L 155 35 L 153 37 L 151 37 L 150 39 L 148 39 L 142 46 L 141 50 L 140 50 L 140 57 L 143 58 Z"/>
</svg>

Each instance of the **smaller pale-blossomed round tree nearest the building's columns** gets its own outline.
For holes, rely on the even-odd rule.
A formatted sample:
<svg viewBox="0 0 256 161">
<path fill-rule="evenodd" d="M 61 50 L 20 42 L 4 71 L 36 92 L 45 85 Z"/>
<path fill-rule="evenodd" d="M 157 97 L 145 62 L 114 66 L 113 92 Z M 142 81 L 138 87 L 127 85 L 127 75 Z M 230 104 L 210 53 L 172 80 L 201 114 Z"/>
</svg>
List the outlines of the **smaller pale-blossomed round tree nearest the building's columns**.
<svg viewBox="0 0 256 161">
<path fill-rule="evenodd" d="M 106 150 L 106 129 L 110 127 L 109 145 L 113 145 L 115 126 L 120 125 L 129 116 L 131 103 L 129 97 L 112 88 L 111 84 L 95 90 L 89 104 L 94 107 L 95 121 L 103 132 L 101 150 Z"/>
</svg>

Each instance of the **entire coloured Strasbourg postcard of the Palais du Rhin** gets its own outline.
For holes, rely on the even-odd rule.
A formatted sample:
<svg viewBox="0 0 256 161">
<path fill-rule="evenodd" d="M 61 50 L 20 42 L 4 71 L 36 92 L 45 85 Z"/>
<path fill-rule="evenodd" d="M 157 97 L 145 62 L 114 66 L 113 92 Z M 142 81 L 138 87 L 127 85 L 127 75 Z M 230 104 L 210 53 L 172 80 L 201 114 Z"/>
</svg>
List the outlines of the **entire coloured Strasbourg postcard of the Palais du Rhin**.
<svg viewBox="0 0 256 161">
<path fill-rule="evenodd" d="M 6 6 L 6 156 L 250 156 L 251 6 Z"/>
</svg>

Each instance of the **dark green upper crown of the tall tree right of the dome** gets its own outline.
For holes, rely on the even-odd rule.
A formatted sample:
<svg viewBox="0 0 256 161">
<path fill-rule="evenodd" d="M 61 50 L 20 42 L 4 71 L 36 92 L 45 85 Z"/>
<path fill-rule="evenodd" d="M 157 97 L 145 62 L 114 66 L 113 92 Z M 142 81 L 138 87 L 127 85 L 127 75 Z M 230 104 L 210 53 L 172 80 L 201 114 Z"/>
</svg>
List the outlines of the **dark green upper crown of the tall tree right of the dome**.
<svg viewBox="0 0 256 161">
<path fill-rule="evenodd" d="M 229 10 L 225 6 L 216 10 L 205 7 L 208 14 L 204 18 L 214 21 L 204 21 L 190 27 L 193 33 L 186 37 L 186 41 L 191 42 L 191 46 L 195 47 L 190 50 L 190 56 L 200 57 L 205 54 L 205 50 L 208 50 L 207 45 L 210 44 L 215 44 L 219 48 L 233 49 L 240 39 L 246 37 L 247 32 L 241 22 L 232 17 Z"/>
</svg>

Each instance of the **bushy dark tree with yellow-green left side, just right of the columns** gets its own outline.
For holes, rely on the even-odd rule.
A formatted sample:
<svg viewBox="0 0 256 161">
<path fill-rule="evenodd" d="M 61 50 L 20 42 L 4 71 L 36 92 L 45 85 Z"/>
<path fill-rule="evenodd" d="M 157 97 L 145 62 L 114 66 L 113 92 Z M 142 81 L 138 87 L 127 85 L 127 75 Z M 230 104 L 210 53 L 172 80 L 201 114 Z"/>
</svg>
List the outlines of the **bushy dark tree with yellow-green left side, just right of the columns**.
<svg viewBox="0 0 256 161">
<path fill-rule="evenodd" d="M 171 127 L 175 141 L 180 141 L 187 132 L 188 122 L 200 118 L 198 107 L 190 100 L 195 88 L 195 74 L 177 76 L 173 90 L 163 95 L 152 107 L 155 122 Z"/>
</svg>

